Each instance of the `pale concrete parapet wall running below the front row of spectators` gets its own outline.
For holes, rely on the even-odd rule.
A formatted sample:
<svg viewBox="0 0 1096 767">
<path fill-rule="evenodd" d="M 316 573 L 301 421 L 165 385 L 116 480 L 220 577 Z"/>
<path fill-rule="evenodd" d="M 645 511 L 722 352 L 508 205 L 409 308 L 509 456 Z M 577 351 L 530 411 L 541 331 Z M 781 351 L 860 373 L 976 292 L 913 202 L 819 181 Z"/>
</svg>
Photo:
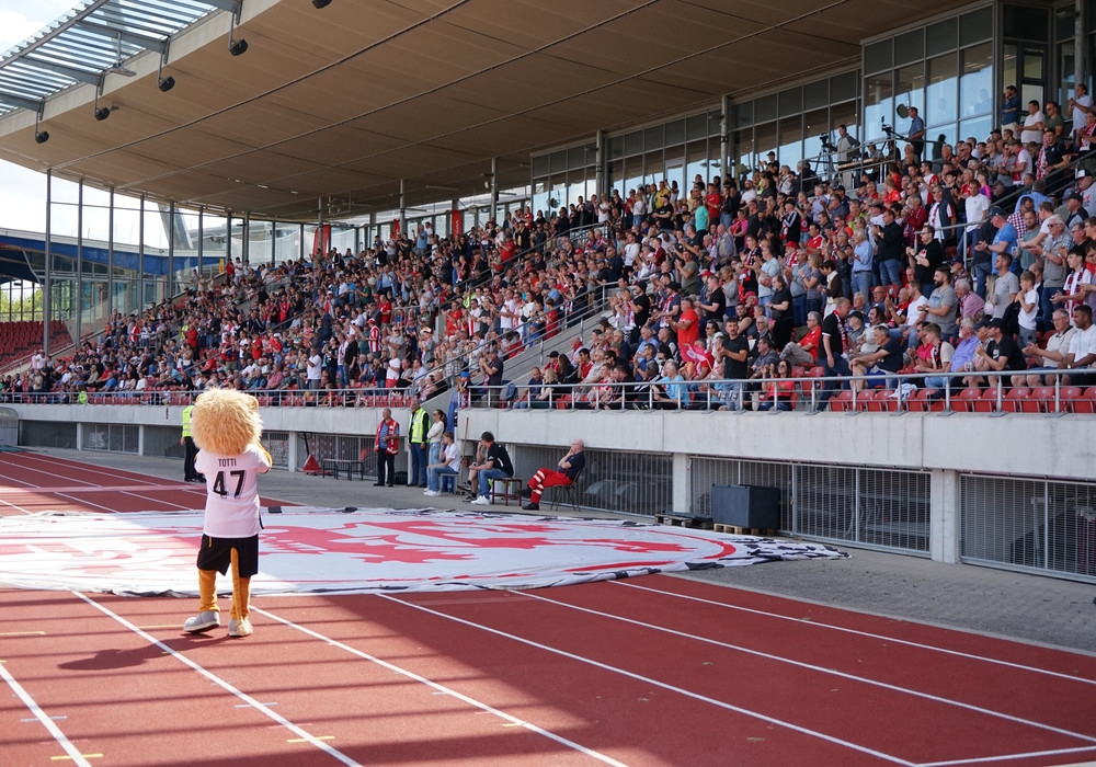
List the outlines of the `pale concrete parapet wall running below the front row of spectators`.
<svg viewBox="0 0 1096 767">
<path fill-rule="evenodd" d="M 21 420 L 178 425 L 182 408 L 10 405 Z M 271 431 L 369 435 L 375 408 L 264 408 Z M 409 412 L 396 409 L 404 426 Z M 1088 481 L 1096 416 L 1027 413 L 700 413 L 468 410 L 457 439 L 491 431 L 504 443 L 842 463 Z M 467 426 L 466 426 L 467 423 Z M 466 431 L 467 430 L 467 431 Z"/>
</svg>

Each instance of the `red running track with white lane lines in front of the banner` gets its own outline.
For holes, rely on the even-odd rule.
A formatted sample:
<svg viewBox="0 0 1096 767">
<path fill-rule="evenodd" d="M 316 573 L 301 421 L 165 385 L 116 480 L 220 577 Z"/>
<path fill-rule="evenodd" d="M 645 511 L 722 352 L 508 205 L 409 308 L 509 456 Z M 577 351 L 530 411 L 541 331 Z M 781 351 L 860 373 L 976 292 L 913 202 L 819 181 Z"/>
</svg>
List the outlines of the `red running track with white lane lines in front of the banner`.
<svg viewBox="0 0 1096 767">
<path fill-rule="evenodd" d="M 1096 758 L 1096 657 L 685 577 L 264 598 L 246 640 L 182 634 L 190 600 L 0 606 L 5 765 Z"/>
</svg>

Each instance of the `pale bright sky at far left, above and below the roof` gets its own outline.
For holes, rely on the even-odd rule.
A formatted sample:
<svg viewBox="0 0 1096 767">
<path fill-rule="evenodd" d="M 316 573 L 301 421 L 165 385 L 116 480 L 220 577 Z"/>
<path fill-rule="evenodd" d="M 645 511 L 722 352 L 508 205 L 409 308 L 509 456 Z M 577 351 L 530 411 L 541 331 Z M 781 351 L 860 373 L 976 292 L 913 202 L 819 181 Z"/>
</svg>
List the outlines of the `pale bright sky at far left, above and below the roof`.
<svg viewBox="0 0 1096 767">
<path fill-rule="evenodd" d="M 81 4 L 80 0 L 0 0 L 0 51 L 11 50 Z M 68 183 L 55 182 L 55 190 Z M 45 174 L 0 160 L 0 229 L 45 228 Z"/>
</svg>

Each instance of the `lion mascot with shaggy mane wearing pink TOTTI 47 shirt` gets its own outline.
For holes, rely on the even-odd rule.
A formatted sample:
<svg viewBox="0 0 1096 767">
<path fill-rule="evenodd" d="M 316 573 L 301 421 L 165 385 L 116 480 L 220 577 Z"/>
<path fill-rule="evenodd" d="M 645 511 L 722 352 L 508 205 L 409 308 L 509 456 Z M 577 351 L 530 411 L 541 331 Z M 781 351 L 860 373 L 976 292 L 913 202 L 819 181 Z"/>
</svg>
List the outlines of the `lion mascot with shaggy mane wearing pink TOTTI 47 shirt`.
<svg viewBox="0 0 1096 767">
<path fill-rule="evenodd" d="M 263 433 L 259 402 L 235 389 L 210 389 L 194 403 L 194 468 L 205 476 L 206 505 L 198 551 L 198 614 L 183 630 L 209 631 L 220 626 L 217 573 L 232 569 L 229 637 L 251 634 L 248 620 L 251 577 L 259 572 L 259 474 L 270 471 L 270 454 L 259 444 Z"/>
</svg>

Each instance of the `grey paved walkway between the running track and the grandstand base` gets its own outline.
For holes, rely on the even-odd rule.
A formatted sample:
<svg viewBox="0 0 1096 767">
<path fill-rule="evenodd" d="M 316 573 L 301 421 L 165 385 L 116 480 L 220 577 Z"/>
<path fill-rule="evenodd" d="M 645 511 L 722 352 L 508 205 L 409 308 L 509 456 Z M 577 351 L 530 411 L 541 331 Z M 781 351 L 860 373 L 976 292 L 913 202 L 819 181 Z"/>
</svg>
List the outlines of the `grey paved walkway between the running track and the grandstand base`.
<svg viewBox="0 0 1096 767">
<path fill-rule="evenodd" d="M 42 451 L 87 463 L 118 466 L 118 457 L 110 454 Z M 125 468 L 167 479 L 181 479 L 183 473 L 181 461 L 167 458 L 127 457 Z M 426 499 L 416 488 L 376 488 L 368 481 L 285 471 L 261 478 L 260 491 L 266 497 L 310 506 L 441 505 L 482 511 L 465 504 L 457 495 Z M 495 506 L 494 511 L 521 510 L 511 505 L 509 510 Z M 1096 584 L 840 548 L 852 557 L 706 570 L 680 577 L 1096 654 Z"/>
</svg>

